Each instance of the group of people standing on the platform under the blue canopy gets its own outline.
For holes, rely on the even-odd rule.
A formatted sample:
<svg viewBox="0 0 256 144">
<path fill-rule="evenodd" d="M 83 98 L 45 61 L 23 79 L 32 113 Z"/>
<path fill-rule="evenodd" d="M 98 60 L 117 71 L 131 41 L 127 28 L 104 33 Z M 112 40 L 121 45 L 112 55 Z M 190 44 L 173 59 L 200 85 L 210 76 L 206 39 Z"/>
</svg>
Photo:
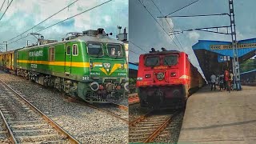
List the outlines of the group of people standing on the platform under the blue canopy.
<svg viewBox="0 0 256 144">
<path fill-rule="evenodd" d="M 216 86 L 219 86 L 219 90 L 232 90 L 233 87 L 233 73 L 230 70 L 225 70 L 223 74 L 212 74 L 210 76 L 210 90 L 216 90 Z"/>
</svg>

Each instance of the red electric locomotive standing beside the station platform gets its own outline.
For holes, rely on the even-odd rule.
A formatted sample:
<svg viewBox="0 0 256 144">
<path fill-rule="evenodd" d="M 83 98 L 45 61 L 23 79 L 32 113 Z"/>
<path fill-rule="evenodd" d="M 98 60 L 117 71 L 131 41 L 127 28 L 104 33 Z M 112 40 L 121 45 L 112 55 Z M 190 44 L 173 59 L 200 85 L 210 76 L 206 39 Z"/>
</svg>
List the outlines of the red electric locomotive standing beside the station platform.
<svg viewBox="0 0 256 144">
<path fill-rule="evenodd" d="M 205 84 L 205 80 L 184 52 L 155 51 L 139 57 L 138 96 L 142 107 L 166 108 L 186 98 Z"/>
</svg>

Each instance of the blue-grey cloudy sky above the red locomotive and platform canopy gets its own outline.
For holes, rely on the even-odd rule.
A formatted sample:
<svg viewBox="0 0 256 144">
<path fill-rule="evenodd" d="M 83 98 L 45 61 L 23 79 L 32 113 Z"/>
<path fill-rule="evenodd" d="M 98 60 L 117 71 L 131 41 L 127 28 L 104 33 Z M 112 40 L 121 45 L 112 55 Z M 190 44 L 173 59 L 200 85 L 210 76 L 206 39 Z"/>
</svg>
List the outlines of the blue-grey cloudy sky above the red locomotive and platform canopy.
<svg viewBox="0 0 256 144">
<path fill-rule="evenodd" d="M 154 6 L 154 3 L 151 0 L 140 1 L 144 6 L 146 6 L 153 17 L 157 19 L 160 25 L 167 32 L 171 31 L 170 26 L 173 28 L 173 30 L 189 30 L 210 26 L 230 26 L 229 16 L 167 18 L 167 21 L 170 23 L 169 26 L 165 18 L 157 17 L 162 16 L 162 14 L 170 14 L 173 11 L 190 4 L 191 2 L 195 2 L 195 0 L 153 0 L 156 6 L 158 6 L 159 10 L 162 11 L 162 14 L 160 14 L 159 10 L 156 6 Z M 199 0 L 193 5 L 187 6 L 186 8 L 171 15 L 229 13 L 228 2 L 228 0 Z M 161 26 L 154 21 L 154 18 L 150 16 L 142 4 L 138 0 L 129 1 L 130 62 L 138 62 L 139 54 L 144 54 L 145 51 L 150 51 L 152 47 L 154 47 L 156 50 L 161 50 L 162 47 L 166 47 L 167 50 L 185 51 L 186 54 L 189 54 L 191 63 L 198 67 L 198 71 L 202 73 L 202 70 L 199 68 L 198 60 L 192 50 L 192 46 L 197 43 L 198 40 L 231 41 L 230 35 L 214 34 L 201 31 L 190 31 L 183 34 L 176 34 L 178 40 L 174 36 L 171 36 L 170 38 L 164 32 L 164 30 L 162 30 Z M 256 1 L 254 0 L 234 0 L 237 40 L 256 37 L 255 5 Z M 221 31 L 226 32 L 226 29 L 221 29 Z M 177 44 L 177 46 L 174 44 L 174 42 Z M 179 45 L 179 42 L 182 46 Z M 142 48 L 142 50 L 138 48 L 138 46 Z"/>
</svg>

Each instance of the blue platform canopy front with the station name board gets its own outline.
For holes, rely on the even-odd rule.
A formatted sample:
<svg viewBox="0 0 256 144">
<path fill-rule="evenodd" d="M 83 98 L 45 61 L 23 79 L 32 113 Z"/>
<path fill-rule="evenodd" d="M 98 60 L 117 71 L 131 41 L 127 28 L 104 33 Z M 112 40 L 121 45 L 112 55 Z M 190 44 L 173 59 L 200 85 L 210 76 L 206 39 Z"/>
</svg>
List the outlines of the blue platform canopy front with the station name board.
<svg viewBox="0 0 256 144">
<path fill-rule="evenodd" d="M 231 42 L 223 41 L 210 41 L 210 40 L 198 40 L 193 50 L 209 50 L 217 54 L 230 56 L 233 58 L 233 49 Z M 256 52 L 256 38 L 250 38 L 238 41 L 238 57 L 242 57 L 243 60 L 251 58 Z"/>
</svg>

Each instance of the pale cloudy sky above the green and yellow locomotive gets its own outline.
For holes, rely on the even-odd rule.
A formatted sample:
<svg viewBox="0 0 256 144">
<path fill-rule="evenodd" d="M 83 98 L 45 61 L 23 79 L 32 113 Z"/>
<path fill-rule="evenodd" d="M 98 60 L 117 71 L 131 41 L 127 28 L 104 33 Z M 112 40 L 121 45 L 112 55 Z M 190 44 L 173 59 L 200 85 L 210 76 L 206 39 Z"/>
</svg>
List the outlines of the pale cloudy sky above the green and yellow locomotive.
<svg viewBox="0 0 256 144">
<path fill-rule="evenodd" d="M 0 44 L 3 44 L 3 41 L 10 40 L 22 34 L 24 31 L 29 30 L 31 27 L 42 22 L 59 10 L 62 10 L 72 2 L 75 3 L 35 27 L 33 30 L 22 34 L 22 37 L 107 1 L 108 0 L 78 0 L 78 2 L 75 2 L 75 0 L 14 0 L 6 11 L 6 14 L 2 17 L 2 14 L 8 6 L 8 2 L 11 2 L 11 0 L 6 0 L 3 6 L 2 3 L 4 0 L 0 0 L 0 6 L 2 6 L 2 10 L 0 11 L 0 18 L 2 17 L 0 21 Z M 112 37 L 115 38 L 117 26 L 122 26 L 122 28 L 127 27 L 128 30 L 128 1 L 126 0 L 113 0 L 56 26 L 52 26 L 49 29 L 42 30 L 39 33 L 42 34 L 45 39 L 56 39 L 59 41 L 69 32 L 82 32 L 84 30 L 104 28 L 106 33 L 112 32 Z M 21 37 L 19 36 L 18 38 Z M 37 42 L 33 36 L 23 38 L 18 42 L 12 40 L 8 42 L 13 42 L 8 46 L 9 50 L 26 46 L 26 40 L 29 40 L 30 43 Z"/>
</svg>

